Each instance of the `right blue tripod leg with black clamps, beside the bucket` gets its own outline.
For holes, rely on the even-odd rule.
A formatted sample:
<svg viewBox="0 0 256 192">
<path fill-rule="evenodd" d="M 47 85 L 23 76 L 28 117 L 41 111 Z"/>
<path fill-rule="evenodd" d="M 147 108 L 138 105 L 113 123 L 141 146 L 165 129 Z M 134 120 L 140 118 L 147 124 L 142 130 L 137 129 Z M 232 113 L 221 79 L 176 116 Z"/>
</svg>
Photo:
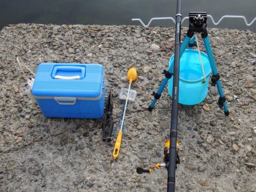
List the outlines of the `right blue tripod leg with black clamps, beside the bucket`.
<svg viewBox="0 0 256 192">
<path fill-rule="evenodd" d="M 225 95 L 223 93 L 221 84 L 220 84 L 220 74 L 218 74 L 218 70 L 216 67 L 216 63 L 214 61 L 214 57 L 213 57 L 213 53 L 212 53 L 212 48 L 210 48 L 210 41 L 208 36 L 203 38 L 204 41 L 204 46 L 205 46 L 205 50 L 207 51 L 207 55 L 209 58 L 209 62 L 210 62 L 210 68 L 212 68 L 212 86 L 217 85 L 218 88 L 218 94 L 220 94 L 220 98 L 218 99 L 218 105 L 220 107 L 224 107 L 224 112 L 225 115 L 228 116 L 229 115 L 229 110 L 228 110 L 228 106 L 226 106 L 226 98 Z"/>
</svg>

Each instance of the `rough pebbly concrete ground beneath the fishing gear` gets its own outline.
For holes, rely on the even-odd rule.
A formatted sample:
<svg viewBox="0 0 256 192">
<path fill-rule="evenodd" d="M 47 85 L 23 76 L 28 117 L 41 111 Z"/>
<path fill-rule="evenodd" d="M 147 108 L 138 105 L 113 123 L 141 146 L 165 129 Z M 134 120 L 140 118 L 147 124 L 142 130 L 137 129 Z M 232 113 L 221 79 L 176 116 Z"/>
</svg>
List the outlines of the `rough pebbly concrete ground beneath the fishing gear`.
<svg viewBox="0 0 256 192">
<path fill-rule="evenodd" d="M 183 37 L 187 28 L 183 28 Z M 204 102 L 180 106 L 178 139 L 183 146 L 176 191 L 254 191 L 256 189 L 256 34 L 209 29 L 214 57 L 230 111 L 217 106 L 216 87 Z M 170 134 L 171 98 L 164 90 L 147 111 L 152 91 L 163 80 L 174 53 L 174 28 L 140 26 L 54 26 L 18 24 L 0 32 L 0 191 L 166 191 L 167 170 L 138 175 L 137 166 L 163 161 Z M 201 39 L 201 37 L 200 37 Z M 203 45 L 200 47 L 204 51 Z M 24 92 L 40 62 L 100 63 L 106 89 L 114 93 L 114 122 L 123 107 L 119 87 L 127 70 L 132 85 L 121 153 L 101 139 L 102 119 L 45 118 Z"/>
</svg>

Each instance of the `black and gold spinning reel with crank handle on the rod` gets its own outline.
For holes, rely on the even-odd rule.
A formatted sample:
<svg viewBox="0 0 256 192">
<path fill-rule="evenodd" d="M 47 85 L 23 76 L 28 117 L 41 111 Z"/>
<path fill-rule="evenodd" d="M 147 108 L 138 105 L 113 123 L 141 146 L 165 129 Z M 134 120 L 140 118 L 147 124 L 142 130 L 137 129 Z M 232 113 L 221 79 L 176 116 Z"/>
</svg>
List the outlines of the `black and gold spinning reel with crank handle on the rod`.
<svg viewBox="0 0 256 192">
<path fill-rule="evenodd" d="M 181 148 L 180 146 L 180 142 L 177 141 L 176 142 L 176 155 L 177 155 L 177 159 L 176 159 L 176 168 L 177 168 L 177 164 L 180 164 L 180 157 L 178 155 L 179 149 Z M 137 167 L 137 173 L 138 174 L 142 174 L 142 173 L 151 173 L 153 169 L 159 169 L 159 168 L 168 168 L 169 165 L 169 154 L 170 154 L 170 140 L 166 141 L 166 144 L 164 146 L 164 163 L 162 164 L 156 164 L 151 166 L 150 169 L 146 169 L 146 168 L 142 168 L 141 166 Z"/>
</svg>

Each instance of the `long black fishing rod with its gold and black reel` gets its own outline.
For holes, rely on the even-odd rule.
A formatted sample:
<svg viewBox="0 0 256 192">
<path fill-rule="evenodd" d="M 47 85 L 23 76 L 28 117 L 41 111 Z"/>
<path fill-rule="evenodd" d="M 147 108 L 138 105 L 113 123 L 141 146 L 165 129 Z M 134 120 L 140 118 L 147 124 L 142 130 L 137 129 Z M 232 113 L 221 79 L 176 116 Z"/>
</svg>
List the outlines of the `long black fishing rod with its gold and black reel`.
<svg viewBox="0 0 256 192">
<path fill-rule="evenodd" d="M 180 31 L 181 31 L 181 0 L 177 0 L 176 10 L 176 27 L 175 27 L 175 50 L 174 50 L 174 73 L 166 72 L 166 77 L 173 75 L 173 90 L 172 90 L 172 115 L 171 115 L 171 130 L 170 140 L 166 141 L 164 148 L 164 164 L 156 164 L 151 169 L 137 167 L 137 173 L 151 173 L 155 168 L 166 168 L 168 170 L 167 191 L 175 191 L 175 171 L 177 164 L 180 163 L 180 158 L 177 152 L 179 151 L 179 141 L 177 141 L 177 117 L 179 110 L 179 70 L 180 70 Z M 150 108 L 149 108 L 150 110 Z"/>
</svg>

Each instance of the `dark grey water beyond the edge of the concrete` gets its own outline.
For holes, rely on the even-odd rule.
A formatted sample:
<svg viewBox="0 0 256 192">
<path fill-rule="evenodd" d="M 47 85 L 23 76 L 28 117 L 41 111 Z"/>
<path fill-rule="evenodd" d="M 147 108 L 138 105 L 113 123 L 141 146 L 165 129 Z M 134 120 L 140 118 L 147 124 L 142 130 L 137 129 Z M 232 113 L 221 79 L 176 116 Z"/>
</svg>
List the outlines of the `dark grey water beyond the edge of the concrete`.
<svg viewBox="0 0 256 192">
<path fill-rule="evenodd" d="M 207 11 L 215 22 L 222 15 L 244 15 L 247 22 L 256 16 L 256 0 L 183 0 L 182 15 L 189 11 Z M 0 29 L 16 23 L 53 24 L 129 24 L 140 18 L 145 24 L 152 17 L 176 14 L 176 0 L 0 0 Z M 209 27 L 214 27 L 209 21 Z M 151 26 L 174 27 L 171 20 L 154 21 Z M 188 23 L 183 23 L 184 27 Z M 225 19 L 220 28 L 249 29 L 242 19 Z"/>
</svg>

